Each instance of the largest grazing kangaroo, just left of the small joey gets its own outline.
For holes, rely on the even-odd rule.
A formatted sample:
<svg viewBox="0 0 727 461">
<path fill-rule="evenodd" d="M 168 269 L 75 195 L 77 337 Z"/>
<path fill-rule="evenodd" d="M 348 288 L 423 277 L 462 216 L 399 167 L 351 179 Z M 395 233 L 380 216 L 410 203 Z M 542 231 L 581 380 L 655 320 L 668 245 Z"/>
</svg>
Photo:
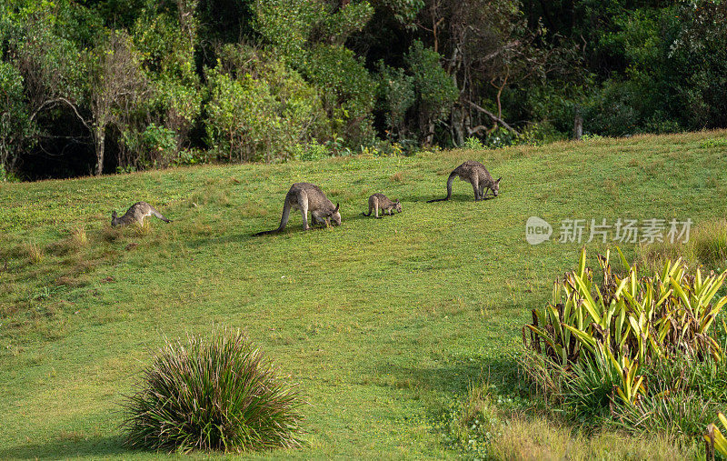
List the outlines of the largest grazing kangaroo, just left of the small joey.
<svg viewBox="0 0 727 461">
<path fill-rule="evenodd" d="M 303 230 L 308 230 L 308 211 L 311 212 L 313 224 L 341 225 L 341 214 L 338 213 L 338 204 L 328 200 L 320 187 L 311 183 L 295 183 L 291 185 L 288 194 L 285 195 L 283 205 L 283 217 L 280 218 L 280 225 L 272 231 L 258 232 L 254 236 L 264 236 L 280 232 L 288 224 L 291 208 L 300 210 L 303 215 Z"/>
</svg>

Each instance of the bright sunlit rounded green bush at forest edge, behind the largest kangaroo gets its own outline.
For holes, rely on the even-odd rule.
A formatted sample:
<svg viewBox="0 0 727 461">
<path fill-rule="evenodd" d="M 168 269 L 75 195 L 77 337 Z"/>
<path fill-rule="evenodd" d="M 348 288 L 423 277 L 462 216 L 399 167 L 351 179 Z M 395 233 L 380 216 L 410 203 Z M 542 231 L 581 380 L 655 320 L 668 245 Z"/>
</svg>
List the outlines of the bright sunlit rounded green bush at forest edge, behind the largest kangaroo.
<svg viewBox="0 0 727 461">
<path fill-rule="evenodd" d="M 208 73 L 208 142 L 228 160 L 271 161 L 328 134 L 321 98 L 297 72 L 228 46 Z"/>
</svg>

